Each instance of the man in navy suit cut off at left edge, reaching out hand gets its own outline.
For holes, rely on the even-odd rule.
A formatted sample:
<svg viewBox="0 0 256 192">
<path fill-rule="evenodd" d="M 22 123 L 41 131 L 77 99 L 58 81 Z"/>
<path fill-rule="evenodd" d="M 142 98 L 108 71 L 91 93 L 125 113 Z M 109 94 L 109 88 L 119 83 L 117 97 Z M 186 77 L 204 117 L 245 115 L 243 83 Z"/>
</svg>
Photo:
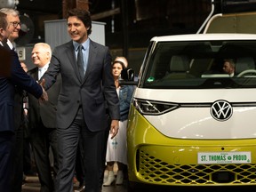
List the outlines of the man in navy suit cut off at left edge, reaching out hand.
<svg viewBox="0 0 256 192">
<path fill-rule="evenodd" d="M 11 68 L 6 75 L 0 75 L 0 191 L 11 191 L 10 180 L 12 171 L 12 147 L 14 135 L 14 89 L 15 85 L 21 89 L 32 93 L 36 98 L 47 100 L 47 93 L 36 83 L 34 79 L 28 76 L 20 66 L 18 55 L 14 51 L 3 50 L 6 44 L 9 32 L 7 30 L 8 22 L 6 14 L 0 12 L 0 47 L 1 52 L 9 55 L 11 64 L 2 63 L 6 68 Z M 9 74 L 8 74 L 9 72 Z"/>
</svg>

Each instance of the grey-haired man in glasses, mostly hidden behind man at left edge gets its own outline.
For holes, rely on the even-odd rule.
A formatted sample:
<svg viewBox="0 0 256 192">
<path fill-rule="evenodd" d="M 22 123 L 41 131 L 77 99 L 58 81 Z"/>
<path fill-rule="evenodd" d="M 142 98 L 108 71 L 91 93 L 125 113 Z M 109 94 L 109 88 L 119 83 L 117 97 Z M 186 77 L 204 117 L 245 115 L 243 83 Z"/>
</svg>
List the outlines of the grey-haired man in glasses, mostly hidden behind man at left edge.
<svg viewBox="0 0 256 192">
<path fill-rule="evenodd" d="M 14 49 L 14 40 L 19 37 L 20 31 L 20 15 L 19 12 L 9 8 L 2 8 L 0 12 L 6 14 L 7 28 L 9 32 L 7 44 L 4 44 L 5 49 Z M 24 91 L 20 88 L 15 88 L 14 95 L 14 127 L 15 127 L 15 144 L 12 155 L 12 179 L 11 179 L 11 192 L 21 192 L 23 180 L 23 128 L 24 128 L 24 115 L 23 115 L 23 97 Z"/>
</svg>

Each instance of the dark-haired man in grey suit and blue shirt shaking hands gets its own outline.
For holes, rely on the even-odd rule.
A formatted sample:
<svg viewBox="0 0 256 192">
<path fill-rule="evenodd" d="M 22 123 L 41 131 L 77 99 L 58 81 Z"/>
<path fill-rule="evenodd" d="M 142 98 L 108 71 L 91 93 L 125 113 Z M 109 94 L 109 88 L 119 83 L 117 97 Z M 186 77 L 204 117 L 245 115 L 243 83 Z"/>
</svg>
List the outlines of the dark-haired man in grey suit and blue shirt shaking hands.
<svg viewBox="0 0 256 192">
<path fill-rule="evenodd" d="M 85 191 L 99 192 L 101 140 L 104 140 L 102 132 L 107 128 L 105 101 L 112 119 L 112 137 L 118 132 L 120 116 L 111 74 L 111 55 L 108 47 L 88 37 L 92 32 L 90 12 L 71 10 L 67 21 L 72 41 L 55 48 L 50 67 L 42 77 L 46 90 L 52 86 L 57 74 L 60 73 L 62 78 L 57 106 L 59 172 L 55 191 L 73 190 L 76 149 L 81 138 L 84 143 Z"/>
</svg>

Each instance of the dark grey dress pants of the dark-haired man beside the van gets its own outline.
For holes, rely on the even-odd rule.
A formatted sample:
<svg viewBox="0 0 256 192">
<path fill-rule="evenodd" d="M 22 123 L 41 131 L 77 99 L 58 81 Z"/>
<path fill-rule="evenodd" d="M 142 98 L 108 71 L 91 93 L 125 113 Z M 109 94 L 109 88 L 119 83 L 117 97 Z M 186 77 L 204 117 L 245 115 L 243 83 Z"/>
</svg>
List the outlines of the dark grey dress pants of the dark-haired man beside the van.
<svg viewBox="0 0 256 192">
<path fill-rule="evenodd" d="M 73 191 L 76 150 L 80 137 L 84 146 L 85 191 L 100 192 L 101 150 L 99 150 L 99 145 L 102 132 L 90 132 L 88 130 L 84 122 L 82 108 L 78 109 L 76 118 L 68 128 L 57 128 L 59 171 L 56 177 L 56 192 Z"/>
</svg>

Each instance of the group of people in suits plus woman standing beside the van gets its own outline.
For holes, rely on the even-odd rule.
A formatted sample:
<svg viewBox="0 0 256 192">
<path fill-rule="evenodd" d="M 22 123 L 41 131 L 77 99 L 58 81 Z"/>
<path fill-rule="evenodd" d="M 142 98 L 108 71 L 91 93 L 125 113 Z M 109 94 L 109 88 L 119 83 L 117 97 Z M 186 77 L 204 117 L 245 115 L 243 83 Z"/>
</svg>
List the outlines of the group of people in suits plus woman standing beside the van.
<svg viewBox="0 0 256 192">
<path fill-rule="evenodd" d="M 90 12 L 68 11 L 67 24 L 71 40 L 53 52 L 49 44 L 35 44 L 35 68 L 27 71 L 13 45 L 19 12 L 0 10 L 0 191 L 22 191 L 26 132 L 40 191 L 72 192 L 74 177 L 80 182 L 76 191 L 99 192 L 115 180 L 123 184 L 134 87 L 119 84 L 119 78 L 128 61 L 116 57 L 112 62 L 108 47 L 89 38 Z"/>
</svg>

